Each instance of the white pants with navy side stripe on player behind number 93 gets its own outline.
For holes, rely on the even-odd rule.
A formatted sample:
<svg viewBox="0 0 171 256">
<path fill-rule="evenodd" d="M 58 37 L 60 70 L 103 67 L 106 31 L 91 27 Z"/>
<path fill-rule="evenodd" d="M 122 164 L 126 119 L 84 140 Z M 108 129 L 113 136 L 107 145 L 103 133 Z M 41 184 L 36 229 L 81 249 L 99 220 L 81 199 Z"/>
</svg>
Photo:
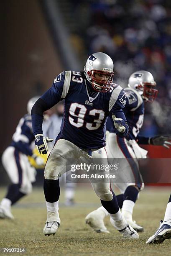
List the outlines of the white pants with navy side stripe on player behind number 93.
<svg viewBox="0 0 171 256">
<path fill-rule="evenodd" d="M 108 161 L 111 164 L 119 163 L 116 172 L 116 179 L 111 180 L 113 184 L 120 189 L 123 194 L 125 189 L 132 185 L 137 186 L 139 190 L 144 188 L 143 178 L 139 172 L 138 160 L 133 149 L 128 145 L 125 138 L 119 138 L 115 133 L 108 133 L 106 141 L 106 151 Z M 117 161 L 118 159 L 118 161 Z"/>
</svg>

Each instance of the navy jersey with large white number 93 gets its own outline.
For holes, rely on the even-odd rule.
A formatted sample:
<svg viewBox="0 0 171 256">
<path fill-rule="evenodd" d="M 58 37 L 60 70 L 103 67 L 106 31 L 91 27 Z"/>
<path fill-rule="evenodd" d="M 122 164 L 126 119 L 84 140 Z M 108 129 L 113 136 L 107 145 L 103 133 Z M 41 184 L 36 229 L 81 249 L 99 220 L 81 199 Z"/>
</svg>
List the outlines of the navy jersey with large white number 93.
<svg viewBox="0 0 171 256">
<path fill-rule="evenodd" d="M 122 110 L 126 104 L 126 94 L 122 87 L 112 84 L 106 93 L 92 92 L 90 87 L 92 89 L 81 73 L 64 71 L 41 96 L 46 108 L 64 99 L 64 117 L 57 139 L 71 141 L 79 148 L 105 146 L 106 120 L 110 113 L 126 121 Z M 42 133 L 38 118 L 40 116 L 37 114 L 32 115 L 34 135 Z"/>
</svg>

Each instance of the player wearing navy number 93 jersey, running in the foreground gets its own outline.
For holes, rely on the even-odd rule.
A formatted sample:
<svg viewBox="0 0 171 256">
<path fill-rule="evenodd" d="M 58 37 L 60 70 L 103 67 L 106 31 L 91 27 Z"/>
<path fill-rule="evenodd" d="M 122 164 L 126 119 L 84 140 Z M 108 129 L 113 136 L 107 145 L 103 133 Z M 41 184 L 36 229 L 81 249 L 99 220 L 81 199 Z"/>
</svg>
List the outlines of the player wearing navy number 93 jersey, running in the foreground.
<svg viewBox="0 0 171 256">
<path fill-rule="evenodd" d="M 64 99 L 61 131 L 45 166 L 45 235 L 55 234 L 60 225 L 59 177 L 67 171 L 67 159 L 74 159 L 77 163 L 98 159 L 98 164 L 107 164 L 105 133 L 110 113 L 114 115 L 117 135 L 124 137 L 128 134 L 129 128 L 123 113 L 125 91 L 119 85 L 112 86 L 113 75 L 110 56 L 101 52 L 94 53 L 87 59 L 84 72 L 61 72 L 54 79 L 52 87 L 32 108 L 35 144 L 40 154 L 47 154 L 48 140 L 42 133 L 43 112 Z M 110 180 L 102 177 L 92 182 L 92 186 L 109 212 L 112 225 L 124 237 L 138 238 L 138 233 L 128 225 L 120 212 L 116 196 L 110 191 Z"/>
</svg>

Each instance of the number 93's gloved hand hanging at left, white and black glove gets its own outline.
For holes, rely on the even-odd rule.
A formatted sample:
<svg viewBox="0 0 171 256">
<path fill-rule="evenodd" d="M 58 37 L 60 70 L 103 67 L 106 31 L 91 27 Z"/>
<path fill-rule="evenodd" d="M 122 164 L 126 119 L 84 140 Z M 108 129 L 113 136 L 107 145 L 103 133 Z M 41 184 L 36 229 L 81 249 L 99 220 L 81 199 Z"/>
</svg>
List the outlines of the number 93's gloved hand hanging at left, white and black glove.
<svg viewBox="0 0 171 256">
<path fill-rule="evenodd" d="M 37 147 L 39 154 L 47 154 L 48 152 L 48 142 L 52 142 L 53 139 L 49 139 L 48 137 L 43 137 L 43 134 L 35 135 L 35 145 Z"/>
</svg>

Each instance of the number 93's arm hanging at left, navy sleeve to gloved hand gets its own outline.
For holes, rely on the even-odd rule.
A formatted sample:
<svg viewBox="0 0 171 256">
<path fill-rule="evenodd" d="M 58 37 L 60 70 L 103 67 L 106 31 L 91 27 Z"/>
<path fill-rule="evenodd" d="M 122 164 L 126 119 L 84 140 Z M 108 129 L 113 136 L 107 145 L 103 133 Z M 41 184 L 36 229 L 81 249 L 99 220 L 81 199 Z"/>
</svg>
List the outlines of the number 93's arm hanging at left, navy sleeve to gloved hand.
<svg viewBox="0 0 171 256">
<path fill-rule="evenodd" d="M 71 72 L 65 71 L 59 74 L 55 79 L 52 87 L 47 90 L 33 105 L 31 110 L 31 119 L 35 144 L 39 154 L 47 154 L 47 143 L 53 141 L 45 138 L 42 131 L 43 112 L 52 108 L 60 100 L 63 100 L 69 90 Z"/>
</svg>

